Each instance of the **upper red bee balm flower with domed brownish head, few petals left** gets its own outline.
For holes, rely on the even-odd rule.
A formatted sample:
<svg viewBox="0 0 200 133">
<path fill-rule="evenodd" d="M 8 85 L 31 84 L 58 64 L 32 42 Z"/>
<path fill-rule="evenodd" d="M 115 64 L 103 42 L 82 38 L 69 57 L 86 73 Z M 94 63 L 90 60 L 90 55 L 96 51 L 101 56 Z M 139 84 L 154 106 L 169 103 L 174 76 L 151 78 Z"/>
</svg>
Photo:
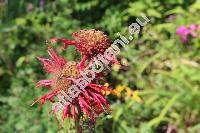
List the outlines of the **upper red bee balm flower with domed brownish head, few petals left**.
<svg viewBox="0 0 200 133">
<path fill-rule="evenodd" d="M 81 68 L 84 67 L 86 60 L 95 58 L 97 54 L 103 55 L 105 50 L 111 46 L 111 41 L 102 31 L 95 29 L 80 30 L 72 33 L 74 40 L 68 40 L 64 38 L 53 38 L 52 41 L 60 41 L 64 44 L 64 49 L 68 45 L 76 46 L 78 52 L 82 55 L 80 63 Z M 112 63 L 118 63 L 116 59 L 112 60 Z"/>
</svg>

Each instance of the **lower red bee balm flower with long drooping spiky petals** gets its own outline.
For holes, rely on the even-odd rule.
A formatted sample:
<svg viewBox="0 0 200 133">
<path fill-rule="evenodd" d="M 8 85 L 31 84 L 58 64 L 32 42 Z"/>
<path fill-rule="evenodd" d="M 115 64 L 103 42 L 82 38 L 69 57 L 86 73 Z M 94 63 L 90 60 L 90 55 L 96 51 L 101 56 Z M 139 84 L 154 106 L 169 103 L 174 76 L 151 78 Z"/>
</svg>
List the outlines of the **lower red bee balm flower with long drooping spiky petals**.
<svg viewBox="0 0 200 133">
<path fill-rule="evenodd" d="M 52 103 L 55 102 L 55 96 L 62 95 L 61 91 L 67 93 L 68 88 L 73 85 L 74 81 L 81 77 L 78 63 L 74 61 L 67 62 L 64 57 L 58 56 L 51 47 L 48 48 L 48 53 L 52 59 L 41 57 L 38 57 L 38 59 L 43 63 L 46 72 L 52 75 L 52 78 L 41 80 L 36 86 L 48 88 L 49 93 L 34 101 L 32 105 L 36 102 L 43 105 L 47 100 Z M 63 108 L 62 119 L 64 120 L 66 117 L 76 119 L 83 113 L 88 118 L 94 119 L 94 115 L 98 116 L 100 113 L 109 110 L 109 104 L 101 93 L 102 91 L 109 91 L 109 89 L 95 84 L 95 79 L 88 83 L 78 97 Z M 55 110 L 52 111 L 55 112 Z"/>
</svg>

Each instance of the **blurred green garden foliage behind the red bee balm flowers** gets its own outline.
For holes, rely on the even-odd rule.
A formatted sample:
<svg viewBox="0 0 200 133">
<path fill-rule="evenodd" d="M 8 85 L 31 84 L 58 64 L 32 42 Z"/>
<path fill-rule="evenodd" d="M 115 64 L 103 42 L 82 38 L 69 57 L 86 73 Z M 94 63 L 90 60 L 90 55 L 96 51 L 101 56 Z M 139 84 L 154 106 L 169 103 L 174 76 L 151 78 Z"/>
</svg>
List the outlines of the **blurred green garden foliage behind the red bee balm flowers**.
<svg viewBox="0 0 200 133">
<path fill-rule="evenodd" d="M 98 118 L 95 132 L 200 132 L 200 38 L 182 43 L 176 34 L 181 25 L 200 25 L 199 0 L 0 0 L 0 132 L 62 131 L 50 104 L 30 107 L 45 93 L 35 89 L 45 77 L 35 57 L 47 56 L 46 40 L 84 28 L 128 37 L 140 13 L 151 23 L 107 76 L 120 97 L 111 94 L 112 114 Z M 73 47 L 62 54 L 79 58 Z"/>
</svg>

